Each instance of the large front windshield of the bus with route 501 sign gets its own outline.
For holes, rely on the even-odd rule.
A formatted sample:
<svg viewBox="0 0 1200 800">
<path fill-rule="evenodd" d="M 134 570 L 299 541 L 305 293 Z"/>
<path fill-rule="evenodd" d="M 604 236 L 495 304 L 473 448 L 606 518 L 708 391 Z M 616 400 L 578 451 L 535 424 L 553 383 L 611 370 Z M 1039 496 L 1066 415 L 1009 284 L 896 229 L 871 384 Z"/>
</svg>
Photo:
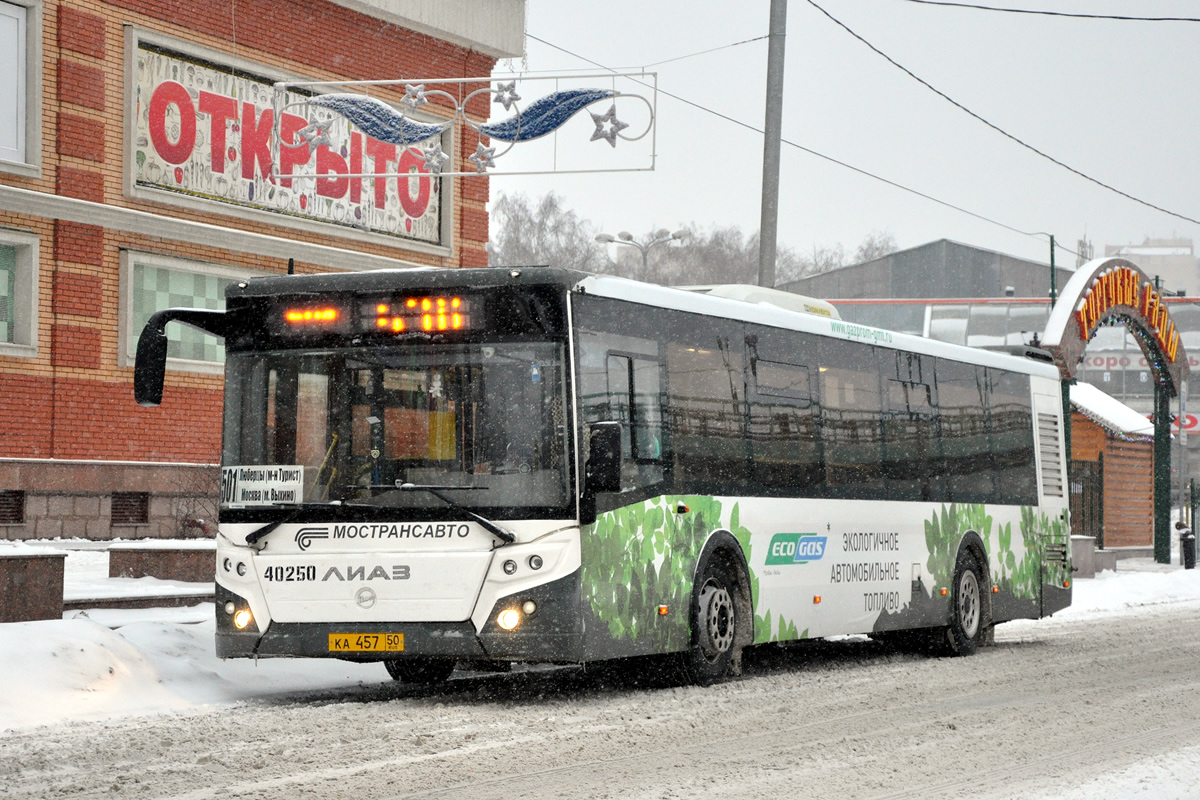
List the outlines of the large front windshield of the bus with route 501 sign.
<svg viewBox="0 0 1200 800">
<path fill-rule="evenodd" d="M 563 353 L 547 342 L 230 353 L 222 509 L 445 509 L 430 487 L 502 517 L 562 513 Z"/>
</svg>

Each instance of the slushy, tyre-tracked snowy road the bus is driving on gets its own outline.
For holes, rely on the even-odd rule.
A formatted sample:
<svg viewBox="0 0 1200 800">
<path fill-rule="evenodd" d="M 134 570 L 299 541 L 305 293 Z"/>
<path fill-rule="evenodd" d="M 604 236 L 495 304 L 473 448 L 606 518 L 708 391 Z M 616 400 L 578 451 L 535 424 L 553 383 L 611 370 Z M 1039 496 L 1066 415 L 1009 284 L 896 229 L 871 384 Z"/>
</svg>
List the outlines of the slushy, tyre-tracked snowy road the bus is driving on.
<svg viewBox="0 0 1200 800">
<path fill-rule="evenodd" d="M 564 670 L 367 682 L 12 732 L 0 795 L 1112 800 L 1150 769 L 1147 796 L 1190 798 L 1198 670 L 1200 602 L 1184 601 L 1014 622 L 971 658 L 758 650 L 710 688 Z M 1121 793 L 1088 783 L 1127 768 Z"/>
</svg>

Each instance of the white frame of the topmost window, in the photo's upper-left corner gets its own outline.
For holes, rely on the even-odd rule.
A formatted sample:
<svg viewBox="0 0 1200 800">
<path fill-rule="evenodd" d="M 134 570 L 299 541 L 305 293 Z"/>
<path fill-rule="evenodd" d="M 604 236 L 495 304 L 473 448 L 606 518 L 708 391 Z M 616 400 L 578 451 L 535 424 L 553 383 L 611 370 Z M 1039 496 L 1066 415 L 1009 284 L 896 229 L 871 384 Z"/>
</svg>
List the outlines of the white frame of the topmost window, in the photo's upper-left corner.
<svg viewBox="0 0 1200 800">
<path fill-rule="evenodd" d="M 18 146 L 0 150 L 0 173 L 42 175 L 42 0 L 0 0 L 0 14 L 16 17 L 24 34 L 18 43 L 17 108 Z"/>
</svg>

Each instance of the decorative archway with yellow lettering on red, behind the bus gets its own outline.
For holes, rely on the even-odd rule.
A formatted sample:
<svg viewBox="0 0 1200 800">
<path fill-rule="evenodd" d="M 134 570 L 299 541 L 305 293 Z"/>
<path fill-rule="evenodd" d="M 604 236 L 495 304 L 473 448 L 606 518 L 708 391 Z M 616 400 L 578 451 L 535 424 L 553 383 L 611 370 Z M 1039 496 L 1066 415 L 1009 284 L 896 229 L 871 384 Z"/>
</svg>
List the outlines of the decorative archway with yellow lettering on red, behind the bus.
<svg viewBox="0 0 1200 800">
<path fill-rule="evenodd" d="M 1188 355 L 1162 294 L 1133 261 L 1088 261 L 1067 282 L 1050 311 L 1042 347 L 1058 365 L 1063 411 L 1069 415 L 1067 385 L 1075 377 L 1084 350 L 1098 327 L 1115 323 L 1133 333 L 1154 378 L 1154 560 L 1166 564 L 1171 560 L 1170 401 L 1178 396 L 1189 369 Z"/>
</svg>

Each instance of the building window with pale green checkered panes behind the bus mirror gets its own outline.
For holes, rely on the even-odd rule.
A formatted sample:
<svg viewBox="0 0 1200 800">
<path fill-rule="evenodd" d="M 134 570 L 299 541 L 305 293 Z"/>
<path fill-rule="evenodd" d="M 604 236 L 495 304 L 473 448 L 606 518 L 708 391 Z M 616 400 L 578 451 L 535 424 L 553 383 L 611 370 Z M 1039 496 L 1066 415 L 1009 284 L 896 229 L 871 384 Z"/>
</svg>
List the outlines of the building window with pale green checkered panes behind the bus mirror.
<svg viewBox="0 0 1200 800">
<path fill-rule="evenodd" d="M 127 305 L 124 329 L 125 363 L 132 365 L 138 337 L 150 315 L 164 308 L 224 309 L 224 290 L 251 273 L 228 267 L 164 258 L 149 253 L 121 253 L 121 277 Z M 168 365 L 192 372 L 221 372 L 224 344 L 216 336 L 173 323 L 167 326 Z"/>
</svg>

